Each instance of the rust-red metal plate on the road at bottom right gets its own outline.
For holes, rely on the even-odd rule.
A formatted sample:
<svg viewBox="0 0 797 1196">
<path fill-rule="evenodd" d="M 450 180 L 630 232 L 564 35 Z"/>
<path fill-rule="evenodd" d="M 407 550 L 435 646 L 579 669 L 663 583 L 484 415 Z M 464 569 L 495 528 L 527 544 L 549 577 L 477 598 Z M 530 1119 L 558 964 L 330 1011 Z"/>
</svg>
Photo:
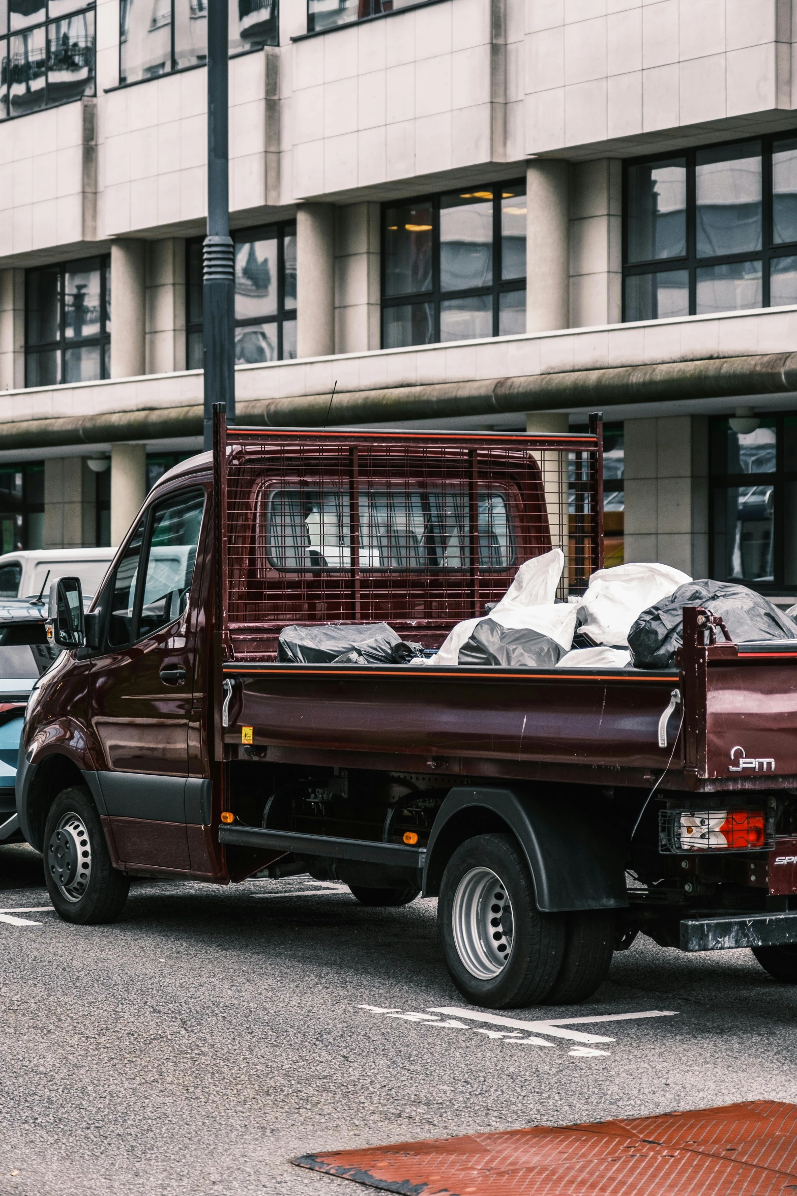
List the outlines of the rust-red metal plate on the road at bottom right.
<svg viewBox="0 0 797 1196">
<path fill-rule="evenodd" d="M 294 1161 L 401 1196 L 797 1196 L 797 1105 L 750 1100 Z"/>
</svg>

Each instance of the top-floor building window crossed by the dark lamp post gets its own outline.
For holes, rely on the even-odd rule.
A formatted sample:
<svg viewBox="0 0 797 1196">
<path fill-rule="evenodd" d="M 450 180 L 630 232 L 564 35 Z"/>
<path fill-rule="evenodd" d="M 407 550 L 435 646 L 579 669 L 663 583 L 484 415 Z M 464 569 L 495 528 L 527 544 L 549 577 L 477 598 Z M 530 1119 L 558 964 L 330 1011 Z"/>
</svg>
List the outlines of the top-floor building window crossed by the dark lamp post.
<svg viewBox="0 0 797 1196">
<path fill-rule="evenodd" d="M 278 0 L 229 4 L 231 55 L 278 44 Z M 121 84 L 153 79 L 207 59 L 208 0 L 121 0 Z"/>
</svg>

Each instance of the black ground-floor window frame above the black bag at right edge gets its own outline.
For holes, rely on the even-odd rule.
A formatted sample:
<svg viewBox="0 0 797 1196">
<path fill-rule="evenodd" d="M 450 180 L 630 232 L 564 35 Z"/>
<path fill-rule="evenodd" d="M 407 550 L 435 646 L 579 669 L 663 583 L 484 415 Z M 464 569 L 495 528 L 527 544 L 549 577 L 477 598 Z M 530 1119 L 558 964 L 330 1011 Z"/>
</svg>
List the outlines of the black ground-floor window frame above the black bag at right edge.
<svg viewBox="0 0 797 1196">
<path fill-rule="evenodd" d="M 795 582 L 785 580 L 785 499 L 789 482 L 797 482 L 797 462 L 791 469 L 786 468 L 786 417 L 793 415 L 792 411 L 756 411 L 755 417 L 761 423 L 774 423 L 775 427 L 775 468 L 774 472 L 764 474 L 730 474 L 728 471 L 715 470 L 713 468 L 713 435 L 715 429 L 721 423 L 727 423 L 731 416 L 719 415 L 709 417 L 709 575 L 717 575 L 716 549 L 716 494 L 718 490 L 728 490 L 741 487 L 772 486 L 774 496 L 774 517 L 772 527 L 773 547 L 773 580 L 772 581 L 748 581 L 743 578 L 727 578 L 732 585 L 747 586 L 761 594 L 783 594 L 795 588 Z M 722 572 L 725 572 L 722 562 Z"/>
</svg>

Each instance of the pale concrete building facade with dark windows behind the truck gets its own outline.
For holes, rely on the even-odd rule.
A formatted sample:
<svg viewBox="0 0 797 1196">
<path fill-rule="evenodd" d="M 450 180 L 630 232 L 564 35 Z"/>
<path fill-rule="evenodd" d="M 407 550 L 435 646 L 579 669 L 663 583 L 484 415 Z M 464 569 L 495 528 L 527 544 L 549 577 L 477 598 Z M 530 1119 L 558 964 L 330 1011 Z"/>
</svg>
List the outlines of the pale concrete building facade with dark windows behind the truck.
<svg viewBox="0 0 797 1196">
<path fill-rule="evenodd" d="M 35 7 L 0 0 L 2 550 L 116 543 L 201 446 L 206 2 Z M 793 597 L 795 0 L 239 0 L 229 50 L 243 419 L 602 408 L 613 562 Z"/>
</svg>

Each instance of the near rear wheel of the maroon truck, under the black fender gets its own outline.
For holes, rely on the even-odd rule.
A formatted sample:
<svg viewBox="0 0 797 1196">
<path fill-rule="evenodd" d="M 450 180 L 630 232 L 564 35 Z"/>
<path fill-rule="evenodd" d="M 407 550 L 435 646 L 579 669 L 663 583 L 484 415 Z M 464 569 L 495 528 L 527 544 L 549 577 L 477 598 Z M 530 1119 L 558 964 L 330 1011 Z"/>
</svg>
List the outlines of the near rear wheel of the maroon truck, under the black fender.
<svg viewBox="0 0 797 1196">
<path fill-rule="evenodd" d="M 565 916 L 537 909 L 511 835 L 478 835 L 456 848 L 440 885 L 437 921 L 448 974 L 472 1005 L 513 1009 L 539 1005 L 551 991 L 564 959 Z M 480 933 L 464 938 L 477 925 Z"/>
</svg>

